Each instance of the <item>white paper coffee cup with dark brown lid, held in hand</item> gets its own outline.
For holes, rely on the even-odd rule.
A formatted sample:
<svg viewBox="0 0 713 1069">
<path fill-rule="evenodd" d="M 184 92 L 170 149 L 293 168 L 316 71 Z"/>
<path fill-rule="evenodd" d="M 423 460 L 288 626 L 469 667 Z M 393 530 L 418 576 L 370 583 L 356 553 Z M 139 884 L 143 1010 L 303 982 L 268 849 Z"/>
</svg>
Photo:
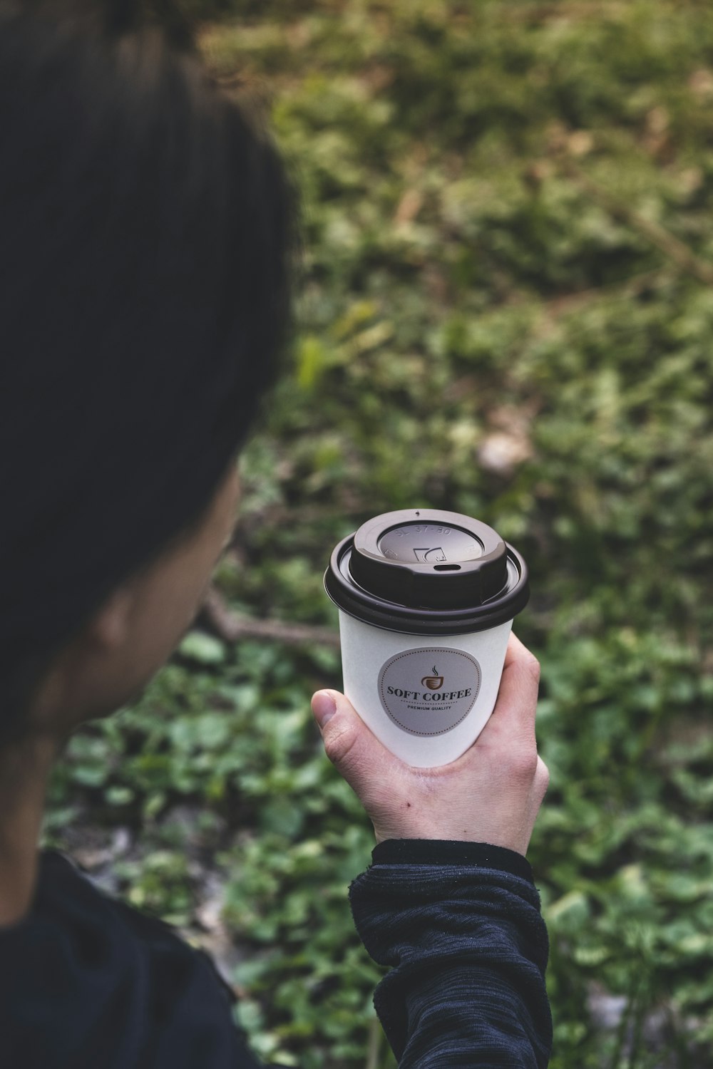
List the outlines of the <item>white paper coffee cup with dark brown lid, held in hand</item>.
<svg viewBox="0 0 713 1069">
<path fill-rule="evenodd" d="M 522 556 L 478 520 L 405 509 L 340 542 L 324 582 L 339 607 L 344 693 L 363 722 L 408 764 L 454 761 L 495 706 L 529 599 Z"/>
</svg>

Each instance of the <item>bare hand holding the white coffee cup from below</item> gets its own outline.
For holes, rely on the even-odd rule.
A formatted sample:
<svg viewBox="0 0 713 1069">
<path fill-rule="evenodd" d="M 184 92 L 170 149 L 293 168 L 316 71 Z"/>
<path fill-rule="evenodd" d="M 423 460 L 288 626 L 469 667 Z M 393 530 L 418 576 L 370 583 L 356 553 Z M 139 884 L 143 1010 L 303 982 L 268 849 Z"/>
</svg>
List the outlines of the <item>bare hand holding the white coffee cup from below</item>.
<svg viewBox="0 0 713 1069">
<path fill-rule="evenodd" d="M 369 814 L 376 841 L 453 839 L 525 854 L 549 774 L 538 757 L 540 666 L 510 636 L 493 715 L 456 761 L 414 769 L 394 757 L 338 691 L 317 691 L 312 712 L 324 747 Z"/>
</svg>

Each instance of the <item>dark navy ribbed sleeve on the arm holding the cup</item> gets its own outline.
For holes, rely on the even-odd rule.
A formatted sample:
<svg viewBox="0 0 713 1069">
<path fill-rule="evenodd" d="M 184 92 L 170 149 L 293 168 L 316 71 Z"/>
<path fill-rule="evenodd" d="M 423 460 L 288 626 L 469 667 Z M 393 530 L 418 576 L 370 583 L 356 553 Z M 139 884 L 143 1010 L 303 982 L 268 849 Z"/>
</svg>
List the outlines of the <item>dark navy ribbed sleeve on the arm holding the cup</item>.
<svg viewBox="0 0 713 1069">
<path fill-rule="evenodd" d="M 391 840 L 351 888 L 401 1069 L 545 1069 L 547 933 L 528 863 L 484 843 Z"/>
</svg>

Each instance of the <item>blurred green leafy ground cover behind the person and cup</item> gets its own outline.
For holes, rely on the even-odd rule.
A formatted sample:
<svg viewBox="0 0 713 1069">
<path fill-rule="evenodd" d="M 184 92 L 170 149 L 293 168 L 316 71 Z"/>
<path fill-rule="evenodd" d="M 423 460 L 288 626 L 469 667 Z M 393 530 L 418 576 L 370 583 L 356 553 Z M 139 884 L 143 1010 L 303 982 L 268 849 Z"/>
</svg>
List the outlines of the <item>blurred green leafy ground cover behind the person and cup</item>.
<svg viewBox="0 0 713 1069">
<path fill-rule="evenodd" d="M 47 840 L 214 954 L 266 1059 L 392 1069 L 322 573 L 378 512 L 469 513 L 531 566 L 552 1066 L 710 1066 L 713 9 L 191 6 L 301 190 L 297 337 L 206 609 L 74 737 Z"/>
</svg>

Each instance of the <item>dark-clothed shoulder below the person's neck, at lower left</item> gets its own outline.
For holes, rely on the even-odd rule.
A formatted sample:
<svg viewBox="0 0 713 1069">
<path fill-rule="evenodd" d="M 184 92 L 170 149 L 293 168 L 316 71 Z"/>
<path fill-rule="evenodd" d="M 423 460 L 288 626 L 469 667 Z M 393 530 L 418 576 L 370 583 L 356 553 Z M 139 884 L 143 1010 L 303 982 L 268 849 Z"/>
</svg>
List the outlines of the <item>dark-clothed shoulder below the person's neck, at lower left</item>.
<svg viewBox="0 0 713 1069">
<path fill-rule="evenodd" d="M 0 1034 L 27 1069 L 124 1069 L 146 1051 L 185 1063 L 199 1037 L 236 1041 L 228 989 L 205 955 L 162 921 L 44 852 L 32 912 L 0 931 Z M 3 1051 L 4 1053 L 4 1051 Z M 233 1052 L 233 1065 L 235 1064 Z"/>
</svg>

